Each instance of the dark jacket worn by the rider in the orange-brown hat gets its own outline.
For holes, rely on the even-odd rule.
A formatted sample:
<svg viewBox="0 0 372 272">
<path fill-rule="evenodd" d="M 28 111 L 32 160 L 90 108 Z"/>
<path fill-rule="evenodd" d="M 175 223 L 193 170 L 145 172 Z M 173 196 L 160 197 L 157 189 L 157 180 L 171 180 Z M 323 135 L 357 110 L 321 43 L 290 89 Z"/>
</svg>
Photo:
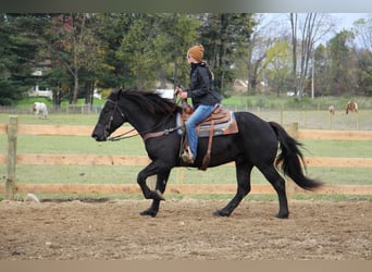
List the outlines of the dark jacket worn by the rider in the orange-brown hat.
<svg viewBox="0 0 372 272">
<path fill-rule="evenodd" d="M 187 97 L 191 98 L 194 108 L 221 102 L 221 95 L 213 89 L 213 76 L 206 63 L 191 63 Z"/>
</svg>

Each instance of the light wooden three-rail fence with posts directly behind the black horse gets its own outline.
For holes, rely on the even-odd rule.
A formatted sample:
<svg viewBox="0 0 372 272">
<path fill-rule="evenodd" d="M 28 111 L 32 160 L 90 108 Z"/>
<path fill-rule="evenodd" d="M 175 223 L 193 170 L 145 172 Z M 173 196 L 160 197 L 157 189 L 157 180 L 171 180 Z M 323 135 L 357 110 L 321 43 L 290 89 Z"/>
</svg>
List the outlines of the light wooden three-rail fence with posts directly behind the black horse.
<svg viewBox="0 0 372 272">
<path fill-rule="evenodd" d="M 146 165 L 149 159 L 146 156 L 101 156 L 101 154 L 17 154 L 17 135 L 47 135 L 47 136 L 88 136 L 91 126 L 65 125 L 26 125 L 17 124 L 17 116 L 10 116 L 9 124 L 0 124 L 0 135 L 8 135 L 8 152 L 0 154 L 0 164 L 7 164 L 7 181 L 0 185 L 0 194 L 7 199 L 13 199 L 14 194 L 140 194 L 137 184 L 16 184 L 16 165 Z M 117 134 L 127 132 L 129 127 L 121 127 Z M 288 133 L 298 139 L 347 139 L 371 140 L 371 131 L 314 131 L 298 129 L 297 123 L 292 123 Z M 306 158 L 309 166 L 334 168 L 371 168 L 372 158 Z M 234 165 L 227 163 L 226 165 Z M 288 184 L 288 195 L 309 194 L 303 189 Z M 226 184 L 169 184 L 166 193 L 171 194 L 235 194 L 236 185 Z M 318 194 L 372 195 L 372 185 L 325 185 Z M 271 185 L 253 184 L 250 194 L 275 194 Z"/>
</svg>

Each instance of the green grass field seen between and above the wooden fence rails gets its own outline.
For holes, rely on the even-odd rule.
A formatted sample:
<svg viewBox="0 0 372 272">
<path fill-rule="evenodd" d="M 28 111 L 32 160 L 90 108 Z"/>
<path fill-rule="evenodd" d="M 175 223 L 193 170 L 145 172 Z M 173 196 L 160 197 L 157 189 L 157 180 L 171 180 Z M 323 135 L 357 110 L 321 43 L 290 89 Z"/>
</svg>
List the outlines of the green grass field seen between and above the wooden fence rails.
<svg viewBox="0 0 372 272">
<path fill-rule="evenodd" d="M 264 120 L 274 120 L 284 125 L 298 122 L 299 128 L 330 129 L 330 115 L 322 111 L 280 112 L 257 111 Z M 49 119 L 37 119 L 33 114 L 20 114 L 20 124 L 50 125 L 94 125 L 97 114 L 51 114 Z M 0 114 L 0 123 L 8 123 L 9 114 Z M 358 115 L 333 116 L 333 129 L 372 129 L 372 111 L 361 111 Z M 367 140 L 303 140 L 306 157 L 356 157 L 371 158 L 372 143 Z M 4 153 L 7 136 L 0 135 L 0 152 Z M 114 143 L 96 143 L 83 136 L 30 136 L 18 135 L 17 153 L 82 153 L 82 154 L 134 154 L 146 156 L 142 140 L 139 137 Z M 104 165 L 17 165 L 17 183 L 108 183 L 135 184 L 137 173 L 144 166 L 104 166 Z M 0 165 L 1 180 L 5 181 L 5 165 Z M 220 166 L 201 172 L 185 169 L 183 178 L 178 178 L 179 170 L 172 171 L 170 183 L 187 184 L 235 184 L 235 168 Z M 325 184 L 372 184 L 372 168 L 308 168 L 311 177 L 322 180 Z M 264 184 L 266 181 L 253 170 L 252 183 Z M 115 196 L 117 197 L 117 196 Z M 138 197 L 138 196 L 135 196 Z M 257 196 L 255 196 L 257 197 Z"/>
</svg>

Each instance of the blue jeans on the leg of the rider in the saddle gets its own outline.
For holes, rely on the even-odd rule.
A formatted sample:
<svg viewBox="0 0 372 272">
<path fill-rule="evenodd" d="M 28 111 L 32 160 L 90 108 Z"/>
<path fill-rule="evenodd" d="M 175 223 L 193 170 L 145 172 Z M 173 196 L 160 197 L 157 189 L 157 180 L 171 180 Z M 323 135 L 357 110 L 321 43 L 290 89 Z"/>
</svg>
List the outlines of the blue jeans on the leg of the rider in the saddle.
<svg viewBox="0 0 372 272">
<path fill-rule="evenodd" d="M 198 150 L 198 134 L 196 125 L 201 123 L 204 119 L 207 119 L 213 112 L 213 110 L 214 104 L 200 104 L 198 106 L 198 108 L 196 108 L 195 112 L 185 123 L 188 146 L 190 147 L 194 158 L 197 157 Z"/>
</svg>

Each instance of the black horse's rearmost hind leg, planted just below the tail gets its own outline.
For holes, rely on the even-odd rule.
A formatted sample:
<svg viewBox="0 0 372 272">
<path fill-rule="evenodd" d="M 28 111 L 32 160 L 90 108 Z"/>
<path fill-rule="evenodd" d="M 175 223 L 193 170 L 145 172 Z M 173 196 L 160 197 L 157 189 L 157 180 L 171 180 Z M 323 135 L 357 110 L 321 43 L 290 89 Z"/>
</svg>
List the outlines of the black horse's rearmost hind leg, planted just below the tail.
<svg viewBox="0 0 372 272">
<path fill-rule="evenodd" d="M 271 185 L 274 187 L 277 194 L 278 202 L 280 202 L 280 210 L 275 217 L 278 219 L 287 219 L 289 215 L 289 210 L 288 210 L 287 195 L 285 193 L 284 178 L 277 173 L 274 165 L 259 168 L 259 170 L 266 177 L 266 180 L 271 183 Z"/>
</svg>

